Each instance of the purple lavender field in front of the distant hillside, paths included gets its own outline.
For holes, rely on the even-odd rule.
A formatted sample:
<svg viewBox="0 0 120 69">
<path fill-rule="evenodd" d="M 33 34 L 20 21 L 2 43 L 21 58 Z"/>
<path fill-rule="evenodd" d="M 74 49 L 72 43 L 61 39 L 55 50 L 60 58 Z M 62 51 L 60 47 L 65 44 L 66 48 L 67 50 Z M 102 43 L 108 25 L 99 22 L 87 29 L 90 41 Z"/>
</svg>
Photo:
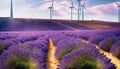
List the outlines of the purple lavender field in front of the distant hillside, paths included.
<svg viewBox="0 0 120 69">
<path fill-rule="evenodd" d="M 0 69 L 119 69 L 100 51 L 120 62 L 119 43 L 120 30 L 1 32 Z"/>
</svg>

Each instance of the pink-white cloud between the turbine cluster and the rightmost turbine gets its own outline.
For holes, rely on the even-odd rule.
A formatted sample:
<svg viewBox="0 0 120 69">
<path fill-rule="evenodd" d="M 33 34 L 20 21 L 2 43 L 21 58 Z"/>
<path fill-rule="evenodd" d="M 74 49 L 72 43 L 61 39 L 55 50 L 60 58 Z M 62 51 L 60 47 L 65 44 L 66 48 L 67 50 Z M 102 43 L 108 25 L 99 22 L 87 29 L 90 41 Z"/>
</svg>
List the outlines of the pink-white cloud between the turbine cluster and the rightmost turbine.
<svg viewBox="0 0 120 69">
<path fill-rule="evenodd" d="M 117 14 L 117 6 L 115 3 L 96 5 L 87 9 L 88 14 L 93 15 L 116 15 Z"/>
</svg>

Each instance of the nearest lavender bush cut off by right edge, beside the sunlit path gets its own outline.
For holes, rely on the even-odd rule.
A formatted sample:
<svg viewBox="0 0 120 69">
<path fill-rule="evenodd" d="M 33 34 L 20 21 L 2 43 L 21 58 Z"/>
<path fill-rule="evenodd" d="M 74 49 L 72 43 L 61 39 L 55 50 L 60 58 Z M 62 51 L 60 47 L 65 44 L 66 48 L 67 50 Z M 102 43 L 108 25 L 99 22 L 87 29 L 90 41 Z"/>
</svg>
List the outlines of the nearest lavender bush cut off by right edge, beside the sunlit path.
<svg viewBox="0 0 120 69">
<path fill-rule="evenodd" d="M 120 40 L 111 47 L 110 52 L 120 59 Z"/>
</svg>

